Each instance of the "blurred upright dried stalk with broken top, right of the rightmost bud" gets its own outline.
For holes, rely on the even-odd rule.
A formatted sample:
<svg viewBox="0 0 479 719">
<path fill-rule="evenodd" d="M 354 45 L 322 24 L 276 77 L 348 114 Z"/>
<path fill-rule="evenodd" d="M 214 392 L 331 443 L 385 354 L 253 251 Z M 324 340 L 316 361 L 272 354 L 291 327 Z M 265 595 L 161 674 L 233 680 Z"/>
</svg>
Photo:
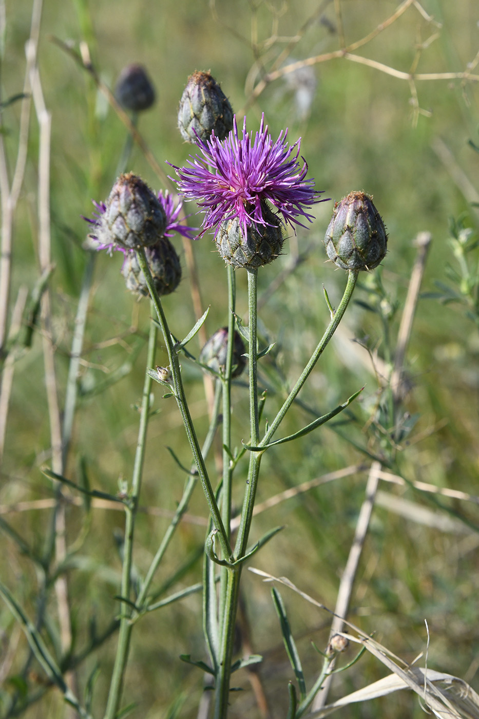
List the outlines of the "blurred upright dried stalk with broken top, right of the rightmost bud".
<svg viewBox="0 0 479 719">
<path fill-rule="evenodd" d="M 427 252 L 431 244 L 432 236 L 430 232 L 419 232 L 414 244 L 417 247 L 416 260 L 409 281 L 406 303 L 404 305 L 401 316 L 401 324 L 399 325 L 398 341 L 396 343 L 396 352 L 394 354 L 394 366 L 391 373 L 391 391 L 393 399 L 397 403 L 403 396 L 403 365 L 406 357 L 406 351 L 411 339 L 411 330 L 414 320 L 414 313 L 419 299 L 419 290 L 421 289 L 424 268 L 426 266 Z"/>
</svg>

